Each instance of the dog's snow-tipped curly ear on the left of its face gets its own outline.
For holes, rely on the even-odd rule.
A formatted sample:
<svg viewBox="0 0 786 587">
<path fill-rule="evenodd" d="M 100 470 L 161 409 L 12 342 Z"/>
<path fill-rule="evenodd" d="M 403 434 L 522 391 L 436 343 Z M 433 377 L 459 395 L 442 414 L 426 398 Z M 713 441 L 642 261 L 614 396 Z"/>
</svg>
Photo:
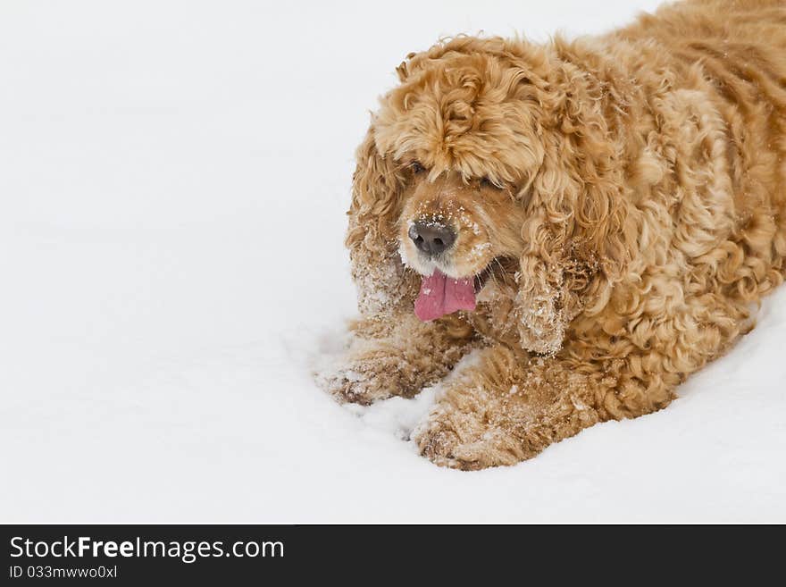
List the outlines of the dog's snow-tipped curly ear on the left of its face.
<svg viewBox="0 0 786 587">
<path fill-rule="evenodd" d="M 389 314 L 414 299 L 417 288 L 397 252 L 396 221 L 404 179 L 395 162 L 377 150 L 373 127 L 356 158 L 346 244 L 357 306 L 364 316 Z"/>
</svg>

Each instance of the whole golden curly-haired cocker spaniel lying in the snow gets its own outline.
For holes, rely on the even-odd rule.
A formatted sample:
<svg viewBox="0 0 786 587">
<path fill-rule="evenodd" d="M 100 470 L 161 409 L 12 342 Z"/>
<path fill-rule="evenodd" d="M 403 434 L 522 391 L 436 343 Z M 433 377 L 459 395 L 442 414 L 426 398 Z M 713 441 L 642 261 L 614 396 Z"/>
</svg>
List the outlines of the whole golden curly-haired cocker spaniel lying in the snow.
<svg viewBox="0 0 786 587">
<path fill-rule="evenodd" d="M 325 381 L 410 397 L 477 349 L 413 434 L 439 465 L 513 464 L 665 407 L 782 282 L 782 0 L 548 46 L 456 38 L 398 73 L 349 211 L 364 318 Z"/>
</svg>

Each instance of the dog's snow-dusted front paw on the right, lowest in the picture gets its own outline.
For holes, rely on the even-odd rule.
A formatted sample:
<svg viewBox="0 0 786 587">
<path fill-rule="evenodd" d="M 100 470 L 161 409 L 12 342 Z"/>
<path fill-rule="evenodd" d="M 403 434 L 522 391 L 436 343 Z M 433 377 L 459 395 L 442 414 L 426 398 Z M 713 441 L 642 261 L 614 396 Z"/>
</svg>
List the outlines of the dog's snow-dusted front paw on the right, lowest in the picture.
<svg viewBox="0 0 786 587">
<path fill-rule="evenodd" d="M 513 430 L 490 423 L 480 411 L 440 402 L 414 430 L 412 439 L 436 465 L 464 471 L 514 465 L 527 457 Z"/>
</svg>

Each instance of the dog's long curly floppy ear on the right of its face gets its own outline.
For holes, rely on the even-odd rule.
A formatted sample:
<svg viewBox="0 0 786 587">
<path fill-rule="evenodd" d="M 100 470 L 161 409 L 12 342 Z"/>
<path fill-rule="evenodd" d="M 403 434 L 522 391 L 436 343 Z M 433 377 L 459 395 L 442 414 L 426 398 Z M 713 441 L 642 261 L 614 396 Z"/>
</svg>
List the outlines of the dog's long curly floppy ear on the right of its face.
<svg viewBox="0 0 786 587">
<path fill-rule="evenodd" d="M 568 323 L 605 305 L 637 231 L 623 165 L 594 86 L 562 71 L 542 103 L 544 160 L 530 186 L 515 312 L 523 348 L 554 354 Z"/>
</svg>

